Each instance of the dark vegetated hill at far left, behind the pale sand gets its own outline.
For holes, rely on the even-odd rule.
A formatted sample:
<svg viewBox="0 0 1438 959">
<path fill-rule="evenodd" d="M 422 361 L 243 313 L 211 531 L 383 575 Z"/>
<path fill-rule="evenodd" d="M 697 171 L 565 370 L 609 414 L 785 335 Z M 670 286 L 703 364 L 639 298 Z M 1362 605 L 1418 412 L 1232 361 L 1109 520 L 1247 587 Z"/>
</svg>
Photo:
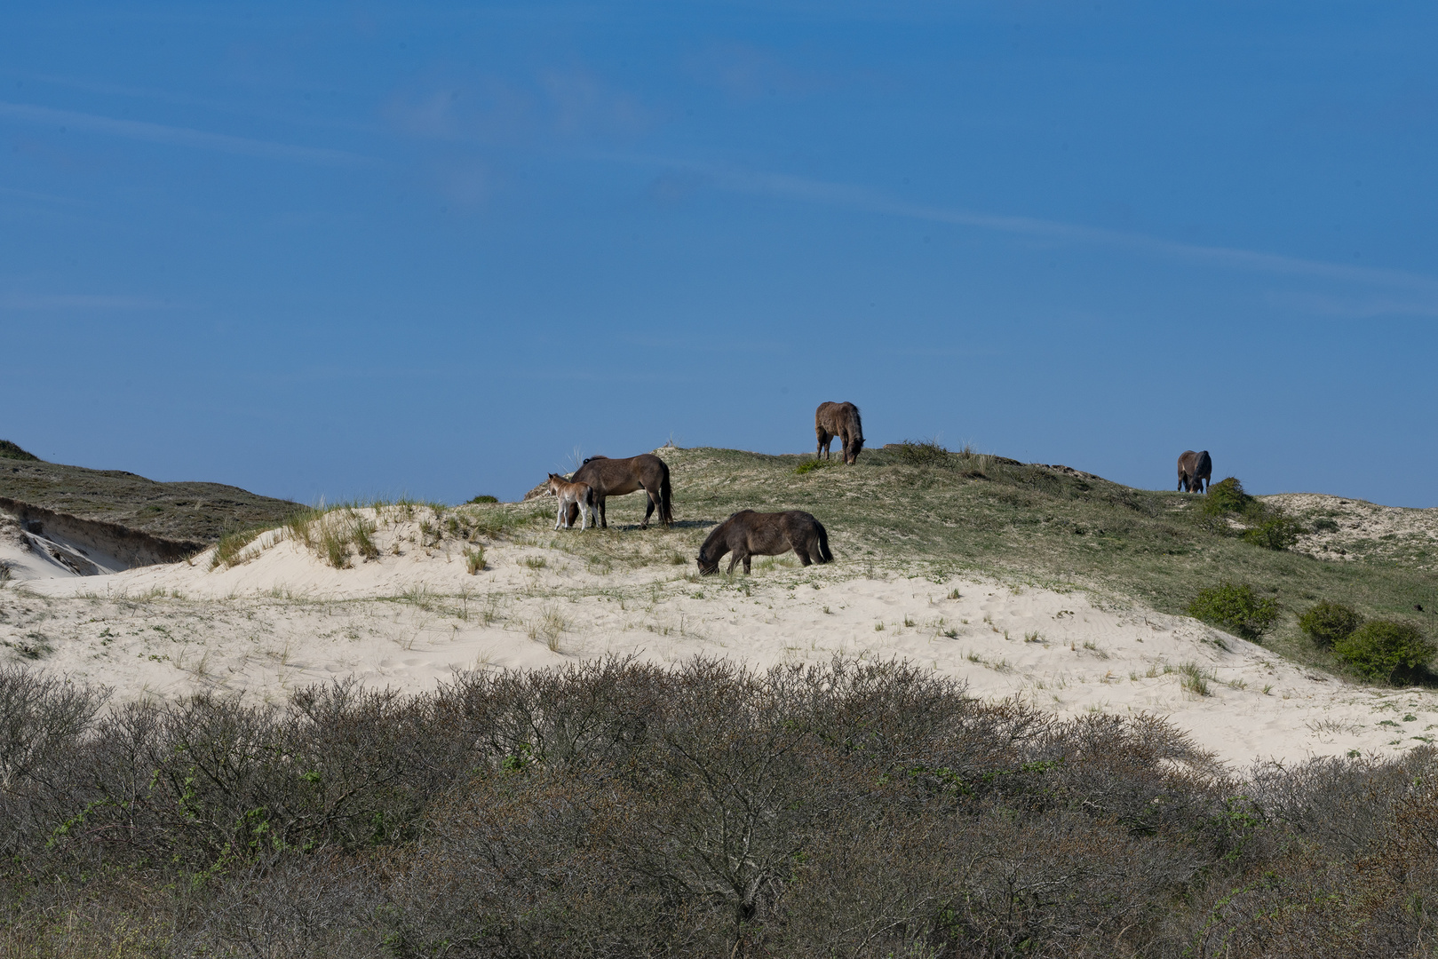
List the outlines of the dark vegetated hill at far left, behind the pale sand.
<svg viewBox="0 0 1438 959">
<path fill-rule="evenodd" d="M 10 502 L 4 502 L 10 500 Z M 36 506 L 173 541 L 216 542 L 237 528 L 279 525 L 298 503 L 221 483 L 157 483 L 122 470 L 46 463 L 0 441 L 0 508 Z"/>
</svg>

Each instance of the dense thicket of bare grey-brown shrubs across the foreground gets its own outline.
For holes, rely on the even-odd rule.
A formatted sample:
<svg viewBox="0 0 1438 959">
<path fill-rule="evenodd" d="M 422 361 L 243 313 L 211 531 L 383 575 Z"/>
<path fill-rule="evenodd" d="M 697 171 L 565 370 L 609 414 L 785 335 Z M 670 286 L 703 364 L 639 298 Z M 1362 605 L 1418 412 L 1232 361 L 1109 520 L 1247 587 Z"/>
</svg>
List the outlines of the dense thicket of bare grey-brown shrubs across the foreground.
<svg viewBox="0 0 1438 959">
<path fill-rule="evenodd" d="M 285 706 L 0 670 L 0 955 L 1432 955 L 1438 753 L 1238 779 L 905 664 Z"/>
</svg>

